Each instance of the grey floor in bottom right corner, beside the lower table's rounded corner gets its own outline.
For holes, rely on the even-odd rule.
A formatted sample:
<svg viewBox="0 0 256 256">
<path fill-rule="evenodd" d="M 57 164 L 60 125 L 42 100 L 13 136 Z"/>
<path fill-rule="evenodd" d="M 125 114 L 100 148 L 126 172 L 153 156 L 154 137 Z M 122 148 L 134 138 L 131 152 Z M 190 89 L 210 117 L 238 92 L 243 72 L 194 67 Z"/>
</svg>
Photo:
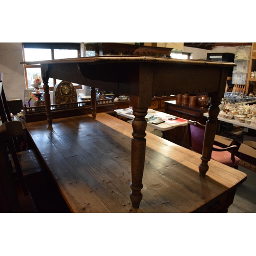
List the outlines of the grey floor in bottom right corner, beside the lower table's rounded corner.
<svg viewBox="0 0 256 256">
<path fill-rule="evenodd" d="M 247 174 L 247 179 L 238 188 L 229 213 L 256 212 L 256 173 L 239 165 L 241 172 Z"/>
</svg>

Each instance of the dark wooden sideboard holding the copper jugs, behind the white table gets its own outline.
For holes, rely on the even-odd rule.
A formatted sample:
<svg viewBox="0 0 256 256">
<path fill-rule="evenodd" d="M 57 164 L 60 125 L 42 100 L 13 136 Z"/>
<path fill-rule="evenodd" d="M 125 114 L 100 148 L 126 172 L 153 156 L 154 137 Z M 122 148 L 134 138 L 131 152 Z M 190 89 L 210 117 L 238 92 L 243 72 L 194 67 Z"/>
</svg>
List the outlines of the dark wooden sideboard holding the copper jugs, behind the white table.
<svg viewBox="0 0 256 256">
<path fill-rule="evenodd" d="M 206 112 L 208 112 L 208 108 L 201 108 L 200 106 L 188 106 L 188 104 L 176 103 L 176 100 L 165 102 L 165 113 L 187 120 L 190 119 L 193 121 L 198 121 L 202 124 L 206 124 L 207 118 L 203 116 L 203 114 Z M 187 127 L 181 126 L 167 131 L 166 139 L 178 145 L 189 148 Z"/>
</svg>

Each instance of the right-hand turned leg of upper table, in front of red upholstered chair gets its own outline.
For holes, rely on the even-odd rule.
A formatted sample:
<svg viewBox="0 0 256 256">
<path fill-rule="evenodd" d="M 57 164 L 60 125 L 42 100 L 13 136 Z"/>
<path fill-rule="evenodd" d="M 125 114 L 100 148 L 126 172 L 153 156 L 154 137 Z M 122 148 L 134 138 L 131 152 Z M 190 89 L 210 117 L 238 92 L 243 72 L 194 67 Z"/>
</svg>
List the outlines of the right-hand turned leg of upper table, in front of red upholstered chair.
<svg viewBox="0 0 256 256">
<path fill-rule="evenodd" d="M 201 156 L 202 162 L 199 164 L 199 174 L 205 177 L 209 169 L 208 162 L 210 161 L 212 145 L 214 144 L 215 134 L 218 126 L 218 115 L 220 112 L 219 105 L 221 99 L 211 98 L 208 110 L 208 117 L 205 126 L 203 153 Z"/>
</svg>

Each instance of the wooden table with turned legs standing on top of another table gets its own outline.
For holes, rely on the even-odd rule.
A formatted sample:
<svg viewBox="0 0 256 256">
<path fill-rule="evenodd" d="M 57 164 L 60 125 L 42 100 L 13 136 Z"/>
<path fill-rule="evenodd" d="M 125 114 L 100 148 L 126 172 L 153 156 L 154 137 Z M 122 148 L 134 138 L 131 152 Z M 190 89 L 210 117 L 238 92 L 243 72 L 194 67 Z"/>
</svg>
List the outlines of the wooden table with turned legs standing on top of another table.
<svg viewBox="0 0 256 256">
<path fill-rule="evenodd" d="M 96 118 L 95 88 L 130 96 L 130 104 L 133 106 L 135 116 L 132 123 L 130 198 L 135 208 L 139 207 L 142 200 L 146 150 L 144 117 L 152 98 L 179 93 L 207 92 L 211 98 L 211 105 L 199 164 L 200 176 L 205 177 L 217 129 L 219 105 L 225 91 L 227 71 L 228 68 L 236 66 L 234 63 L 146 56 L 97 56 L 22 63 L 40 64 L 49 128 L 52 126 L 48 86 L 50 77 L 90 86 L 94 118 Z"/>
</svg>

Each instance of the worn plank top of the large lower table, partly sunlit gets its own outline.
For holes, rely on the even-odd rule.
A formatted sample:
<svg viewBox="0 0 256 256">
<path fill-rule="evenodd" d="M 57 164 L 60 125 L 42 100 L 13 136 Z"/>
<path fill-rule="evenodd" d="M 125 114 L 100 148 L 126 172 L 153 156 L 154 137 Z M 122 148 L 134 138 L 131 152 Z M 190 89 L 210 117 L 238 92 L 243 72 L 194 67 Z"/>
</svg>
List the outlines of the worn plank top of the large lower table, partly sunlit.
<svg viewBox="0 0 256 256">
<path fill-rule="evenodd" d="M 26 123 L 29 135 L 72 212 L 193 212 L 246 179 L 239 170 L 146 133 L 143 199 L 130 201 L 132 125 L 110 115 Z"/>
</svg>

